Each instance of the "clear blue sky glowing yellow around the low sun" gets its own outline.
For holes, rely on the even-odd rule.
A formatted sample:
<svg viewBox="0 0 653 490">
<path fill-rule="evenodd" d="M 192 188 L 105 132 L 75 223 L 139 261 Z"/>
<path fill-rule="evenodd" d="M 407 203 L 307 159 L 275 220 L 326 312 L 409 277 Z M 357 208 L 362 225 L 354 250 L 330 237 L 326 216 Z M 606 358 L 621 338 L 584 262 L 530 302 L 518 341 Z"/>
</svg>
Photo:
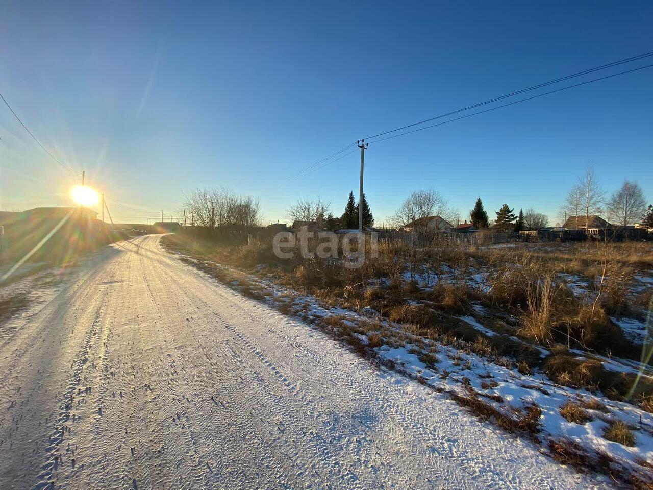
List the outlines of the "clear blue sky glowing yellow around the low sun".
<svg viewBox="0 0 653 490">
<path fill-rule="evenodd" d="M 118 203 L 169 214 L 196 186 L 257 195 L 268 220 L 298 195 L 340 214 L 358 154 L 279 181 L 358 138 L 653 50 L 650 1 L 90 4 L 5 2 L 0 91 L 120 221 L 148 215 Z M 554 216 L 588 162 L 607 191 L 629 178 L 653 201 L 652 86 L 648 69 L 372 145 L 372 212 L 434 188 L 463 217 L 477 195 L 492 216 Z M 69 203 L 73 177 L 6 106 L 0 138 L 0 209 Z"/>
</svg>

